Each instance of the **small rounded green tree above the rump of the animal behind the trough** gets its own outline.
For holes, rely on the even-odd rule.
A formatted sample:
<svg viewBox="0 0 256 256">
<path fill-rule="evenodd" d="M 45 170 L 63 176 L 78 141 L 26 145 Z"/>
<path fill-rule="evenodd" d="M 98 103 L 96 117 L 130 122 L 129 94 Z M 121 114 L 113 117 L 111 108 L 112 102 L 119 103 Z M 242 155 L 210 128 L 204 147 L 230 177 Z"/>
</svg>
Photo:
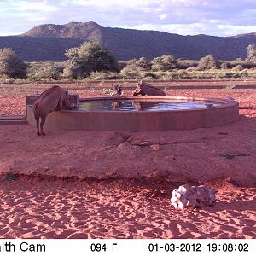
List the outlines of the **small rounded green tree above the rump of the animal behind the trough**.
<svg viewBox="0 0 256 256">
<path fill-rule="evenodd" d="M 167 71 L 177 67 L 177 61 L 172 55 L 162 55 L 152 61 L 152 70 Z"/>
</svg>

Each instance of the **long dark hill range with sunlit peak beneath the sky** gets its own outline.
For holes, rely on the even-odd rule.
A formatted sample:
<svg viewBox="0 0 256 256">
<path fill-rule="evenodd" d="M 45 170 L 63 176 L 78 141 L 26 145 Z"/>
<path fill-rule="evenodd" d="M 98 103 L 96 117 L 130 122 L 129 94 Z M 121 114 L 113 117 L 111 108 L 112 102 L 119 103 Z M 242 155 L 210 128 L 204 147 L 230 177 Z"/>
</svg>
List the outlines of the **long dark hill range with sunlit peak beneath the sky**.
<svg viewBox="0 0 256 256">
<path fill-rule="evenodd" d="M 65 50 L 84 41 L 97 41 L 119 60 L 160 55 L 198 60 L 207 54 L 219 60 L 246 57 L 248 44 L 256 44 L 256 33 L 234 37 L 181 36 L 158 31 L 103 27 L 95 22 L 35 26 L 17 36 L 0 37 L 0 48 L 9 47 L 25 61 L 65 61 Z"/>
</svg>

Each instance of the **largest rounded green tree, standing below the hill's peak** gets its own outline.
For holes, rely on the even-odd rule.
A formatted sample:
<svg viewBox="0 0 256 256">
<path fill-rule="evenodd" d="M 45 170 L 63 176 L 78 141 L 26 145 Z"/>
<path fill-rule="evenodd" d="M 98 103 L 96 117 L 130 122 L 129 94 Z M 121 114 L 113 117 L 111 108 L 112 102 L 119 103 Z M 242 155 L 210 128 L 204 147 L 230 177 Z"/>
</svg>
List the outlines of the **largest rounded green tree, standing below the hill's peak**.
<svg viewBox="0 0 256 256">
<path fill-rule="evenodd" d="M 68 49 L 65 53 L 67 67 L 64 73 L 73 78 L 86 77 L 96 71 L 117 71 L 118 62 L 109 52 L 96 42 L 85 42 L 80 47 Z"/>
</svg>

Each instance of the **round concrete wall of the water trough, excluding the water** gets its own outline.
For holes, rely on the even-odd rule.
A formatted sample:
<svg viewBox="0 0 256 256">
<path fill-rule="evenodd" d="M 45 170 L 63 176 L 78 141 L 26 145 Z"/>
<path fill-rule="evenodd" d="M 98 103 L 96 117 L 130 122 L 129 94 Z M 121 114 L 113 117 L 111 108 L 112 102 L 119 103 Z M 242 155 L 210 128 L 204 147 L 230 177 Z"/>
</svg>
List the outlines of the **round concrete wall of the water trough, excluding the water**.
<svg viewBox="0 0 256 256">
<path fill-rule="evenodd" d="M 46 129 L 88 130 L 88 131 L 167 131 L 191 130 L 216 125 L 226 125 L 239 117 L 239 105 L 236 101 L 209 98 L 188 98 L 173 96 L 120 96 L 96 97 L 86 100 L 133 100 L 148 101 L 203 101 L 216 102 L 216 108 L 194 108 L 154 112 L 82 112 L 79 110 L 50 113 L 44 127 Z M 27 106 L 27 120 L 36 125 L 32 105 Z"/>
</svg>

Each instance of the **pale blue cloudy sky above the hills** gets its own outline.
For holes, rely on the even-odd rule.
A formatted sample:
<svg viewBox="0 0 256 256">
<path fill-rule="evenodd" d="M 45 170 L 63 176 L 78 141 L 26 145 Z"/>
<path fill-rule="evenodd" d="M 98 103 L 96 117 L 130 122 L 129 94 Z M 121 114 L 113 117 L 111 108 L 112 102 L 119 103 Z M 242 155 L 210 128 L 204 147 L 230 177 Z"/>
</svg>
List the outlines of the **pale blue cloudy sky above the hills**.
<svg viewBox="0 0 256 256">
<path fill-rule="evenodd" d="M 256 0 L 0 0 L 0 36 L 71 21 L 181 35 L 233 36 L 256 32 Z"/>
</svg>

